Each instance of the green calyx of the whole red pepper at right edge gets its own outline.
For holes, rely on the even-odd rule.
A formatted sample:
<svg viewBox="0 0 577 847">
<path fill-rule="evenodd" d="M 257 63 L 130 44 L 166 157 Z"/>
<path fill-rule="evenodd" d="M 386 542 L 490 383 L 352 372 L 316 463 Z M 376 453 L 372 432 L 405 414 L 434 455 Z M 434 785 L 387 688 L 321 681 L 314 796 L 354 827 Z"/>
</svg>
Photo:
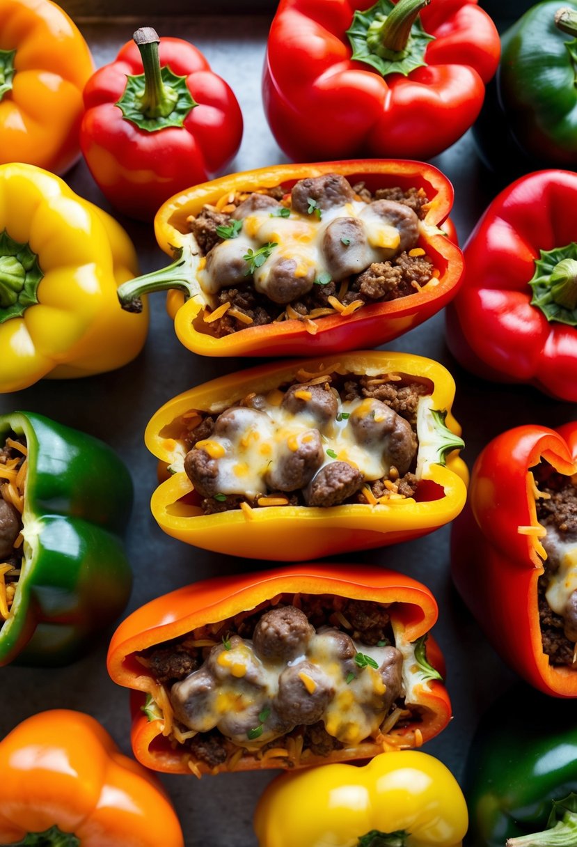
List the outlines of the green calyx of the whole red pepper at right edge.
<svg viewBox="0 0 577 847">
<path fill-rule="evenodd" d="M 535 260 L 531 306 L 541 309 L 548 321 L 577 326 L 577 244 L 541 250 Z"/>
</svg>

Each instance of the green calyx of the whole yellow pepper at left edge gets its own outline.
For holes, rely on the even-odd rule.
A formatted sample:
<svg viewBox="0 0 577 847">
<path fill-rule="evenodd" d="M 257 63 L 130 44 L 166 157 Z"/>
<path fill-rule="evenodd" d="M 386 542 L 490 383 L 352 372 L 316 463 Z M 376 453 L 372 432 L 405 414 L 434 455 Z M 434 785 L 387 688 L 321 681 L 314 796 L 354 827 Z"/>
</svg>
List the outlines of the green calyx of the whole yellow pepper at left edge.
<svg viewBox="0 0 577 847">
<path fill-rule="evenodd" d="M 38 286 L 44 274 L 28 242 L 14 241 L 7 230 L 0 233 L 0 324 L 21 317 L 38 302 Z"/>
</svg>

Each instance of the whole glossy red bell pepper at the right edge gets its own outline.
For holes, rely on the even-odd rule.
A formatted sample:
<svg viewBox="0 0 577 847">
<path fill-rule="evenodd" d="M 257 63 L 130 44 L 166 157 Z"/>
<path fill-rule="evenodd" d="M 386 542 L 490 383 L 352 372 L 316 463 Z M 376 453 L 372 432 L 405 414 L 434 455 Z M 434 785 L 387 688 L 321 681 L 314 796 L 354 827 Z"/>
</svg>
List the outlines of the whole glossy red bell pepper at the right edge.
<svg viewBox="0 0 577 847">
<path fill-rule="evenodd" d="M 486 209 L 447 310 L 448 345 L 464 368 L 577 401 L 576 202 L 577 174 L 545 170 Z"/>
</svg>

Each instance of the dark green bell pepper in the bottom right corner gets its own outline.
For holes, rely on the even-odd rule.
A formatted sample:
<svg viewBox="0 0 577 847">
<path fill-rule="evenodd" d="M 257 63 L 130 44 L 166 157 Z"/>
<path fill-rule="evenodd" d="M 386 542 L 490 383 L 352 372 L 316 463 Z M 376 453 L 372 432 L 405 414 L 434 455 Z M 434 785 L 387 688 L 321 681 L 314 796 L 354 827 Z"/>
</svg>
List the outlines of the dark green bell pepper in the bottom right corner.
<svg viewBox="0 0 577 847">
<path fill-rule="evenodd" d="M 574 700 L 515 685 L 482 717 L 464 794 L 470 847 L 577 844 Z"/>
</svg>

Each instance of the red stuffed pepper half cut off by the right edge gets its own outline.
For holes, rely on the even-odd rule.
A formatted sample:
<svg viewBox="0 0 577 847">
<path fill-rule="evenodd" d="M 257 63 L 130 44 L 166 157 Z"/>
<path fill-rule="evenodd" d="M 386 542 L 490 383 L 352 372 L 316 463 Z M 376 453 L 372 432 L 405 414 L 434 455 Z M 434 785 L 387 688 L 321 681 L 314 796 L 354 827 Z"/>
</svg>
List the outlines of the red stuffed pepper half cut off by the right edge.
<svg viewBox="0 0 577 847">
<path fill-rule="evenodd" d="M 454 582 L 497 652 L 577 697 L 577 421 L 509 429 L 475 462 L 452 527 Z"/>
</svg>

